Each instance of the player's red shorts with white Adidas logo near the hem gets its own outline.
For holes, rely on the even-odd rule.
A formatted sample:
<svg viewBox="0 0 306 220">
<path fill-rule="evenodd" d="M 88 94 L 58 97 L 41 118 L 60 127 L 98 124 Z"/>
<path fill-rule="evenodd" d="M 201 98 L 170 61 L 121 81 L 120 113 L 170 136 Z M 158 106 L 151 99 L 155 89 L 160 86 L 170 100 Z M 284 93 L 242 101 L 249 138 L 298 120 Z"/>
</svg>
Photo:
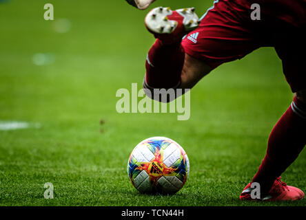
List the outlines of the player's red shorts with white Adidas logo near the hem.
<svg viewBox="0 0 306 220">
<path fill-rule="evenodd" d="M 251 18 L 253 3 L 260 20 Z M 275 47 L 292 91 L 306 89 L 306 0 L 215 0 L 182 45 L 212 68 Z"/>
</svg>

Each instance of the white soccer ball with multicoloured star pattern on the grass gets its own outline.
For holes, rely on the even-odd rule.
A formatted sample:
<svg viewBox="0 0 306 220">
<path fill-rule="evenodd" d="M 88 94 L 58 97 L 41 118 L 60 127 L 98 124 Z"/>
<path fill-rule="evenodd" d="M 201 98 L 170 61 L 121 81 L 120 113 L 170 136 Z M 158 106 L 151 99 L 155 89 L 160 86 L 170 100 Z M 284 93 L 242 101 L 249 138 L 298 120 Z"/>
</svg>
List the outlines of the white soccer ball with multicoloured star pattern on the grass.
<svg viewBox="0 0 306 220">
<path fill-rule="evenodd" d="M 143 140 L 128 161 L 130 180 L 143 193 L 174 194 L 184 186 L 189 170 L 187 154 L 167 137 Z"/>
</svg>

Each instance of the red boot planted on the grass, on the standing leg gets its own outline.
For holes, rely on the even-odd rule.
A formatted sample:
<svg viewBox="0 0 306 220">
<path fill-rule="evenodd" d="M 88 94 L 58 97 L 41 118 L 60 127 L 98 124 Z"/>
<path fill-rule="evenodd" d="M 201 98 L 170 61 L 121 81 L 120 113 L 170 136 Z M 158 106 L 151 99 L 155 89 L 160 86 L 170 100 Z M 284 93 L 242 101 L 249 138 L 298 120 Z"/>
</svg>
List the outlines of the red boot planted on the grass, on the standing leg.
<svg viewBox="0 0 306 220">
<path fill-rule="evenodd" d="M 299 188 L 294 186 L 287 186 L 286 183 L 281 181 L 281 177 L 278 177 L 269 190 L 268 194 L 262 196 L 261 199 L 252 199 L 251 198 L 251 183 L 247 184 L 241 192 L 240 199 L 241 200 L 253 200 L 253 201 L 295 201 L 303 199 L 305 194 Z"/>
</svg>

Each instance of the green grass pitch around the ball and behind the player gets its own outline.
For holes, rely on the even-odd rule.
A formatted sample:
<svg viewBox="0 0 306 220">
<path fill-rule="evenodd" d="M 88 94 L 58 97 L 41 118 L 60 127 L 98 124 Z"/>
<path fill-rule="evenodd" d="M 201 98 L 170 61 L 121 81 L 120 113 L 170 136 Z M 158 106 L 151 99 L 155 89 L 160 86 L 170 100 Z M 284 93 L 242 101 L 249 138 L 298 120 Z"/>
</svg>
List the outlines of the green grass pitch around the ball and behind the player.
<svg viewBox="0 0 306 220">
<path fill-rule="evenodd" d="M 54 21 L 43 19 L 42 1 L 0 3 L 0 121 L 41 124 L 0 131 L 0 206 L 305 206 L 238 199 L 293 97 L 272 48 L 198 83 L 190 120 L 119 114 L 116 90 L 141 85 L 154 42 L 143 25 L 147 11 L 123 0 L 50 3 Z M 152 7 L 159 5 L 194 6 L 201 16 L 212 2 L 162 0 Z M 54 32 L 61 18 L 70 21 L 69 32 Z M 53 62 L 34 65 L 37 53 L 52 54 Z M 141 195 L 130 183 L 130 152 L 152 136 L 176 140 L 190 158 L 190 177 L 176 195 Z M 305 163 L 303 152 L 283 174 L 304 191 Z M 46 182 L 54 184 L 54 199 L 43 197 Z"/>
</svg>

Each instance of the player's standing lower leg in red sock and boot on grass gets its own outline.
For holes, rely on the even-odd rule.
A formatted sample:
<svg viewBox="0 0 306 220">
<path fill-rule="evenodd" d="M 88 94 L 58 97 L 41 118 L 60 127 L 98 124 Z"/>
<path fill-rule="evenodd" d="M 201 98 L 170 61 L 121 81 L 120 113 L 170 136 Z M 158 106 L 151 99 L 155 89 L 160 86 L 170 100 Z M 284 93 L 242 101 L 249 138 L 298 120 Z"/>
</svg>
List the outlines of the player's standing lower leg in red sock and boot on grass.
<svg viewBox="0 0 306 220">
<path fill-rule="evenodd" d="M 278 177 L 298 157 L 306 144 L 306 90 L 298 91 L 292 104 L 274 126 L 269 136 L 267 154 L 252 182 L 261 186 L 261 199 L 271 201 L 303 199 L 304 192 L 286 186 Z M 241 199 L 250 197 L 250 184 Z"/>
</svg>

